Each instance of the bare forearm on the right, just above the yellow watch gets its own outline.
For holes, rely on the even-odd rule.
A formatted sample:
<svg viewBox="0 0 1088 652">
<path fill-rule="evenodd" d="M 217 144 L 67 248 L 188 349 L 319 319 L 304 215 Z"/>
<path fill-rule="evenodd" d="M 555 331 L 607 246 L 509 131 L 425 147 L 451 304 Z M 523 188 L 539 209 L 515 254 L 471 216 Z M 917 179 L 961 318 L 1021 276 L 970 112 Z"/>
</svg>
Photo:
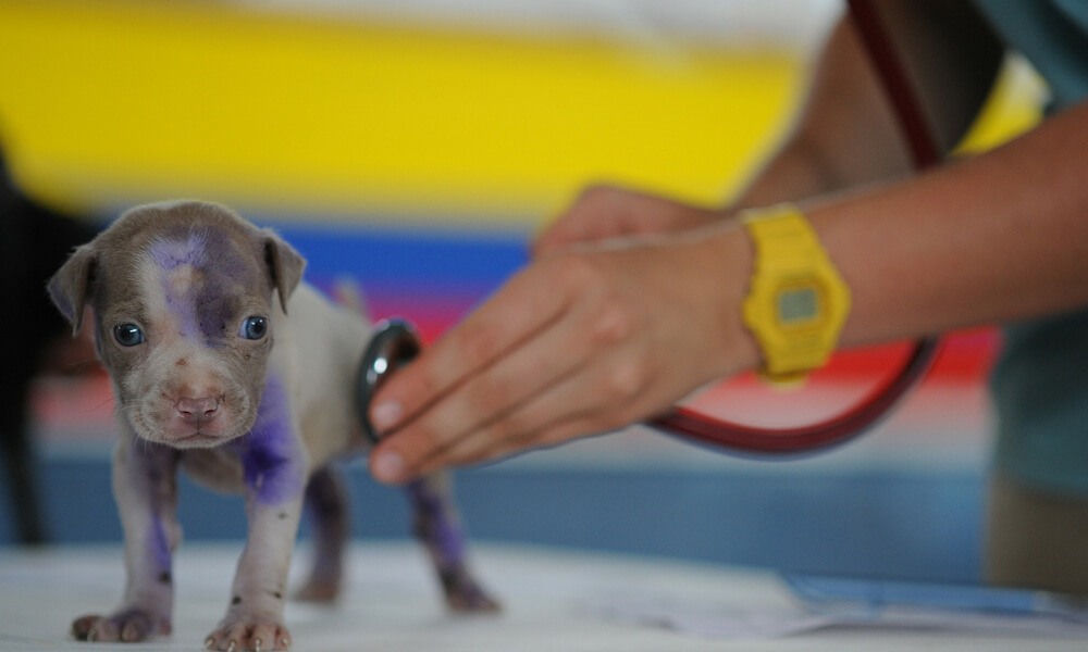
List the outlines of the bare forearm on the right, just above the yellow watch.
<svg viewBox="0 0 1088 652">
<path fill-rule="evenodd" d="M 844 346 L 1088 304 L 1088 104 L 976 159 L 805 204 L 853 292 Z"/>
</svg>

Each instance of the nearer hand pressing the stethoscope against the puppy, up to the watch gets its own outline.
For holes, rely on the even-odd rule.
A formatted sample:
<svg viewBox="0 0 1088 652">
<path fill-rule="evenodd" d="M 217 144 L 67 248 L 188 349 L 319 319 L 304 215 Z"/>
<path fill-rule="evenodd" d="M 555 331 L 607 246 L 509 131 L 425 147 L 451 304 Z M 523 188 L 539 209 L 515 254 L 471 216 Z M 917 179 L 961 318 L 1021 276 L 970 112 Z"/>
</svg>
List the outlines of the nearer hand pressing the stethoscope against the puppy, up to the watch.
<svg viewBox="0 0 1088 652">
<path fill-rule="evenodd" d="M 753 366 L 751 255 L 726 226 L 531 263 L 378 391 L 371 472 L 401 482 L 616 429 Z"/>
</svg>

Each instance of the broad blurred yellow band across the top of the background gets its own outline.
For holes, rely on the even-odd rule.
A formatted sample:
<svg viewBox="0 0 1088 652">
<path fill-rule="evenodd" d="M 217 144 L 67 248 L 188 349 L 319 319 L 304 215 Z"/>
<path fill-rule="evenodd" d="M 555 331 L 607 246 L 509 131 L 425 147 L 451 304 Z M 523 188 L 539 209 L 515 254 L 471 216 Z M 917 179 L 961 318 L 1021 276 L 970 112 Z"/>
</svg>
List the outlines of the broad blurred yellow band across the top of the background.
<svg viewBox="0 0 1088 652">
<path fill-rule="evenodd" d="M 796 52 L 215 2 L 0 0 L 0 137 L 67 206 L 533 224 L 590 181 L 714 202 L 774 143 Z M 1035 117 L 1021 105 L 984 139 Z"/>
</svg>

